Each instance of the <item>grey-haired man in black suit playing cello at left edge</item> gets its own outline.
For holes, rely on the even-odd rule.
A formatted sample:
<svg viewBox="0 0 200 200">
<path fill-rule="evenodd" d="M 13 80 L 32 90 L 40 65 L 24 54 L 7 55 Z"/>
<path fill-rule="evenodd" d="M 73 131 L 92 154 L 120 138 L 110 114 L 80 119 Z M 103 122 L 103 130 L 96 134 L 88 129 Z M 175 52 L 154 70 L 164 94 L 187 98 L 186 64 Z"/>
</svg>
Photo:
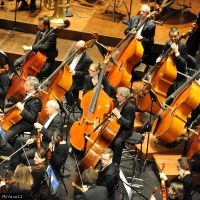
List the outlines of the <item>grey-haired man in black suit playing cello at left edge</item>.
<svg viewBox="0 0 200 200">
<path fill-rule="evenodd" d="M 5 133 L 4 140 L 2 139 L 1 141 L 1 147 L 6 146 L 7 143 L 14 147 L 16 142 L 15 136 L 23 134 L 25 131 L 31 131 L 33 129 L 33 124 L 36 122 L 38 113 L 42 107 L 40 97 L 32 97 L 37 92 L 38 86 L 39 81 L 36 77 L 29 76 L 27 78 L 24 84 L 24 88 L 27 93 L 24 97 L 25 103 L 16 103 L 16 107 L 20 110 L 22 119 L 8 129 L 8 131 Z"/>
</svg>

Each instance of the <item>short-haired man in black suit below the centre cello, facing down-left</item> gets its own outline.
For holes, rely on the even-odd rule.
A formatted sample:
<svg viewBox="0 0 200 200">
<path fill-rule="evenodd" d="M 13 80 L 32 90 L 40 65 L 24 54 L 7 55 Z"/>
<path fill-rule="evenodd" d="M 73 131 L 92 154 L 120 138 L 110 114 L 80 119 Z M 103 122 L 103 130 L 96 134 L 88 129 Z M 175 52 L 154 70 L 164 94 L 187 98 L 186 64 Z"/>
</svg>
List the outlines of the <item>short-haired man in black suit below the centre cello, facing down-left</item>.
<svg viewBox="0 0 200 200">
<path fill-rule="evenodd" d="M 97 185 L 107 188 L 110 199 L 114 199 L 114 189 L 118 186 L 118 173 L 119 171 L 113 163 L 113 151 L 110 148 L 103 149 Z"/>
</svg>

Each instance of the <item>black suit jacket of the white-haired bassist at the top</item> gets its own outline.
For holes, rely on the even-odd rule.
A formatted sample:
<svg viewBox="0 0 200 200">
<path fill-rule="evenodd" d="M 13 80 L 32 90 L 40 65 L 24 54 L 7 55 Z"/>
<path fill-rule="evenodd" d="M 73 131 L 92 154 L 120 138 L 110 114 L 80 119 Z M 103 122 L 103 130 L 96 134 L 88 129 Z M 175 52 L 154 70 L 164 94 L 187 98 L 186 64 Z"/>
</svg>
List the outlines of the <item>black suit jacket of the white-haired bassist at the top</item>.
<svg viewBox="0 0 200 200">
<path fill-rule="evenodd" d="M 139 16 L 132 17 L 128 23 L 127 28 L 124 30 L 124 34 L 127 35 L 133 28 L 136 28 L 139 20 Z M 147 55 L 151 51 L 151 47 L 154 44 L 155 30 L 156 25 L 152 21 L 147 20 L 141 32 L 141 36 L 143 37 L 141 42 L 144 48 L 144 55 Z"/>
</svg>

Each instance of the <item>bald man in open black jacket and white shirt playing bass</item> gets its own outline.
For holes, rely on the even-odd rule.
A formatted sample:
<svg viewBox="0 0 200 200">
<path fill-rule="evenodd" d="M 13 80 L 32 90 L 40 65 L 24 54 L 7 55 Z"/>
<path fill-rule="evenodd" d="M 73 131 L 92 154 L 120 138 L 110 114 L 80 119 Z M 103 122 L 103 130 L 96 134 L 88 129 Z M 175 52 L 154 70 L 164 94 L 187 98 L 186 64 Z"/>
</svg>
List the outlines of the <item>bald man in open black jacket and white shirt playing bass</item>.
<svg viewBox="0 0 200 200">
<path fill-rule="evenodd" d="M 75 50 L 71 51 L 69 56 L 77 51 L 79 48 L 84 47 L 85 41 L 79 40 L 75 45 Z M 88 68 L 92 63 L 92 59 L 84 49 L 77 52 L 74 59 L 69 63 L 70 74 L 72 75 L 72 85 L 66 93 L 66 100 L 68 106 L 74 105 L 74 100 L 78 98 L 79 90 L 84 87 L 84 78 L 88 74 Z"/>
</svg>

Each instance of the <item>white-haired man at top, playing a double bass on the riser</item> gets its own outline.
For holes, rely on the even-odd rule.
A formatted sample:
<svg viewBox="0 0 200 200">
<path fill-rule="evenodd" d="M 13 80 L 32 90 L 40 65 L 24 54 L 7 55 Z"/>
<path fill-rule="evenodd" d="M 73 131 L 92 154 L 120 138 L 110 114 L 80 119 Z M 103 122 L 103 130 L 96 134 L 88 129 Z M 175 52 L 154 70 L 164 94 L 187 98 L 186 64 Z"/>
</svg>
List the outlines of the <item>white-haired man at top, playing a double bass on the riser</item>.
<svg viewBox="0 0 200 200">
<path fill-rule="evenodd" d="M 127 35 L 133 28 L 137 28 L 138 24 L 142 22 L 145 17 L 150 12 L 150 7 L 146 4 L 143 4 L 140 8 L 140 12 L 138 16 L 134 16 L 130 19 L 127 28 L 124 30 L 124 34 Z M 139 41 L 141 41 L 142 46 L 144 48 L 144 53 L 142 57 L 142 62 L 145 63 L 146 65 L 149 65 L 149 56 L 151 53 L 151 47 L 154 44 L 154 36 L 155 36 L 155 30 L 156 30 L 156 25 L 151 21 L 147 20 L 146 23 L 135 33 L 133 30 L 133 34 L 136 34 L 135 38 Z M 138 67 L 140 62 L 136 64 L 134 69 Z M 137 76 L 134 71 L 132 71 L 132 76 Z M 132 77 L 135 80 L 135 78 Z M 138 77 L 139 78 L 139 77 Z"/>
</svg>

